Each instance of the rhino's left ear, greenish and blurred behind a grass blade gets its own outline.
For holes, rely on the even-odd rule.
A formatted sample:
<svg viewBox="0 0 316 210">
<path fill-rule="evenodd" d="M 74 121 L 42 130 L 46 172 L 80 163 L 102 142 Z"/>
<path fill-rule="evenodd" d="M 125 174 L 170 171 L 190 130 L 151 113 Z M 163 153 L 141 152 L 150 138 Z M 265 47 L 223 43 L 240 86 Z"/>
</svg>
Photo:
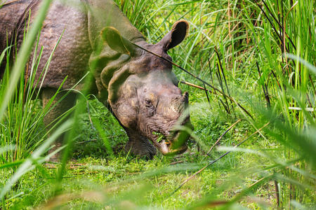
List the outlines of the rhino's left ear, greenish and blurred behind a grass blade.
<svg viewBox="0 0 316 210">
<path fill-rule="evenodd" d="M 107 44 L 117 52 L 122 54 L 128 54 L 131 56 L 136 55 L 136 46 L 119 34 L 119 31 L 114 27 L 105 27 L 101 31 L 101 37 L 103 41 L 106 41 Z"/>
</svg>

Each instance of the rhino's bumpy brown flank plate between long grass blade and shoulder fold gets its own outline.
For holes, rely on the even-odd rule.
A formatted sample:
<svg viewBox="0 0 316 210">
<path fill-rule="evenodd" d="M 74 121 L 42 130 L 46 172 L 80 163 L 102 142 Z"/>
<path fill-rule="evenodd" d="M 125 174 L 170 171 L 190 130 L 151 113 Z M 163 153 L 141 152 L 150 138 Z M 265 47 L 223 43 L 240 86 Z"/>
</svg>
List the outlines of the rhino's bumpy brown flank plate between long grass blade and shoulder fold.
<svg viewBox="0 0 316 210">
<path fill-rule="evenodd" d="M 58 39 L 61 38 L 53 53 L 42 87 L 57 88 L 62 83 L 62 80 L 67 77 L 62 88 L 71 88 L 88 70 L 88 59 L 92 50 L 88 38 L 87 15 L 80 1 L 72 1 L 72 3 L 77 4 L 67 6 L 59 1 L 53 1 L 43 22 L 39 46 L 43 46 L 44 51 L 41 55 L 39 70 L 37 71 L 37 80 L 40 78 L 41 70 L 44 69 L 51 52 L 57 45 Z M 33 9 L 35 15 L 38 9 L 39 4 Z M 32 20 L 35 15 L 32 16 Z M 23 34 L 20 33 L 19 41 L 22 40 L 22 36 Z M 31 58 L 33 55 L 34 52 Z M 30 65 L 31 62 L 29 63 Z M 76 89 L 80 90 L 81 86 L 77 86 Z"/>
</svg>

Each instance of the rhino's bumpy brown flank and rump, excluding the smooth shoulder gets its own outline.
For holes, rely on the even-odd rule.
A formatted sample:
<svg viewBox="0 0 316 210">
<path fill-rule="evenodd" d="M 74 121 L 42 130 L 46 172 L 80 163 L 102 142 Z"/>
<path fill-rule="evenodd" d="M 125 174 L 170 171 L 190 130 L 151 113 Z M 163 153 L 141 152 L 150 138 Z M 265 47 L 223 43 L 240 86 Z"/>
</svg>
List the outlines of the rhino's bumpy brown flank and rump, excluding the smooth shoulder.
<svg viewBox="0 0 316 210">
<path fill-rule="evenodd" d="M 27 29 L 25 23 L 27 23 L 30 14 L 29 21 L 32 24 L 39 11 L 40 2 L 39 0 L 13 1 L 0 8 L 0 52 L 8 45 L 7 39 L 10 45 L 11 40 L 15 40 L 15 36 L 17 37 L 16 43 L 13 43 L 13 45 L 16 45 L 19 50 Z M 86 8 L 81 1 L 71 1 L 71 5 L 53 1 L 39 36 L 39 48 L 36 54 L 39 55 L 41 47 L 43 47 L 43 53 L 35 76 L 35 84 L 38 80 L 41 80 L 42 70 L 45 68 L 46 62 L 60 37 L 60 42 L 53 53 L 42 87 L 58 88 L 67 77 L 62 88 L 71 88 L 84 76 L 92 52 L 88 38 L 87 22 Z M 14 59 L 15 55 L 12 54 L 11 56 Z M 31 74 L 34 54 L 33 51 L 29 56 L 28 68 L 26 68 L 27 76 Z M 4 71 L 4 68 L 1 69 L 0 71 Z M 77 89 L 81 89 L 81 86 L 79 85 Z"/>
</svg>

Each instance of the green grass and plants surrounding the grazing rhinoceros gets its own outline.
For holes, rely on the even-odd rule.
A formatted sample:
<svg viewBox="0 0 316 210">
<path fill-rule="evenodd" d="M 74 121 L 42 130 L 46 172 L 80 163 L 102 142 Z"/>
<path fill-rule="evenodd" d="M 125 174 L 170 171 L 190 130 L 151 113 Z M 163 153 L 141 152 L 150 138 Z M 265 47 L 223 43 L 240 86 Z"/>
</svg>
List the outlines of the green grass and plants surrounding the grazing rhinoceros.
<svg viewBox="0 0 316 210">
<path fill-rule="evenodd" d="M 314 1 L 117 0 L 150 43 L 176 20 L 190 22 L 187 38 L 169 54 L 205 82 L 174 66 L 190 94 L 195 132 L 183 155 L 148 161 L 122 152 L 126 134 L 93 96 L 72 110 L 79 123 L 59 123 L 48 138 L 41 122 L 48 109 L 41 109 L 34 80 L 19 77 L 44 2 L 0 83 L 0 209 L 315 208 Z M 40 57 L 31 58 L 32 71 L 45 72 L 37 69 Z M 70 125 L 62 162 L 44 165 L 46 151 Z"/>
</svg>

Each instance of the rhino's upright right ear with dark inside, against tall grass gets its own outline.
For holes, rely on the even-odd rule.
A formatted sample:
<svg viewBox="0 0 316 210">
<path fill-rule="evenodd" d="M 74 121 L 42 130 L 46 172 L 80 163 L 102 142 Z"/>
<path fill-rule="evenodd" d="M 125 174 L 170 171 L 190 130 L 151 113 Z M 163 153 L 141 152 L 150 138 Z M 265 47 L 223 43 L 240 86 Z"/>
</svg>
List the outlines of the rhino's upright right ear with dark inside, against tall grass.
<svg viewBox="0 0 316 210">
<path fill-rule="evenodd" d="M 162 45 L 165 51 L 174 48 L 183 41 L 187 31 L 189 31 L 189 23 L 185 20 L 178 20 L 173 24 L 171 31 L 157 45 Z"/>
</svg>

